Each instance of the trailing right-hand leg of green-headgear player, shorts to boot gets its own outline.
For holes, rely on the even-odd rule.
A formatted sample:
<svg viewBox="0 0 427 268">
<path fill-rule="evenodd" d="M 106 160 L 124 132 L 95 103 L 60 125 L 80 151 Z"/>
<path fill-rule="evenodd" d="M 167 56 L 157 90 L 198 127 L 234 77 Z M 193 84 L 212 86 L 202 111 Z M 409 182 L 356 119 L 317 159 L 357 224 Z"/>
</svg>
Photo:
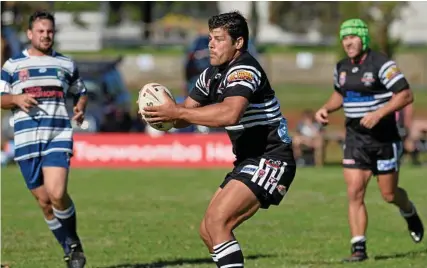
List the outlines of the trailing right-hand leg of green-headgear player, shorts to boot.
<svg viewBox="0 0 427 268">
<path fill-rule="evenodd" d="M 401 143 L 394 143 L 390 148 L 385 147 L 379 152 L 382 159 L 377 161 L 378 186 L 383 199 L 399 208 L 408 224 L 411 238 L 419 243 L 424 236 L 422 221 L 405 189 L 398 187 L 400 148 Z"/>
</svg>

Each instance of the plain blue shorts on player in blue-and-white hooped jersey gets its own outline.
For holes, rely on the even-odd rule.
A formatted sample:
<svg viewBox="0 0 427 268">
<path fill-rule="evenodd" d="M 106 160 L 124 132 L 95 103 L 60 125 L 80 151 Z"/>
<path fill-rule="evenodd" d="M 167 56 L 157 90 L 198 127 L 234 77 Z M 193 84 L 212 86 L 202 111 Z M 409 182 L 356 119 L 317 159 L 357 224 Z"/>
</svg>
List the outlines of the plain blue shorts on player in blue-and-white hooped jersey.
<svg viewBox="0 0 427 268">
<path fill-rule="evenodd" d="M 66 152 L 53 152 L 45 156 L 18 161 L 28 189 L 33 190 L 43 185 L 43 167 L 70 167 L 71 155 Z"/>
</svg>

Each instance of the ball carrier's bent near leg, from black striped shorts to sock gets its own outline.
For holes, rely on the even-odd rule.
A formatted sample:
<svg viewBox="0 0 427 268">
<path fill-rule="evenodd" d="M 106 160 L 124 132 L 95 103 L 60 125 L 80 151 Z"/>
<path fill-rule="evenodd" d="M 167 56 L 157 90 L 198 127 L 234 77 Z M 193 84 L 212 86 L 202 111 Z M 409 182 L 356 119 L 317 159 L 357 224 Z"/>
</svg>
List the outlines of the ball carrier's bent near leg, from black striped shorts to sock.
<svg viewBox="0 0 427 268">
<path fill-rule="evenodd" d="M 295 170 L 280 161 L 249 159 L 226 178 L 204 218 L 219 267 L 243 267 L 243 253 L 232 231 L 259 208 L 278 205 Z"/>
</svg>

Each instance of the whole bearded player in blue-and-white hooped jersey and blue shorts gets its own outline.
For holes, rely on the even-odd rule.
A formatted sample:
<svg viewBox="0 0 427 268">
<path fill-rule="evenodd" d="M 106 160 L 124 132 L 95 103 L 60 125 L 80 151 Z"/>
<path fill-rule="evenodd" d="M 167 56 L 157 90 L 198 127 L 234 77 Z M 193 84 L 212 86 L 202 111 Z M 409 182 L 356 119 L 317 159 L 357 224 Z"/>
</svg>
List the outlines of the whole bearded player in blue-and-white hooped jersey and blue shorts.
<svg viewBox="0 0 427 268">
<path fill-rule="evenodd" d="M 30 17 L 31 48 L 6 61 L 1 70 L 1 108 L 13 112 L 15 161 L 28 189 L 61 244 L 67 267 L 81 268 L 86 258 L 76 231 L 75 207 L 67 193 L 73 131 L 65 94 L 70 91 L 79 96 L 73 120 L 81 124 L 86 88 L 74 62 L 52 49 L 54 33 L 52 14 L 35 12 Z"/>
</svg>

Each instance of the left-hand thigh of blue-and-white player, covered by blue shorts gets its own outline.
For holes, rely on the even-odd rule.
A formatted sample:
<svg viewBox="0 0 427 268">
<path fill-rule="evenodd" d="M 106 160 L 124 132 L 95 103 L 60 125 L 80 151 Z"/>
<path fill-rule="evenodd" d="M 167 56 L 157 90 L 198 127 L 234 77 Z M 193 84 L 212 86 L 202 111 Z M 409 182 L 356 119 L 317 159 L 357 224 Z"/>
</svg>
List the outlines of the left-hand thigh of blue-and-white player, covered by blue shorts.
<svg viewBox="0 0 427 268">
<path fill-rule="evenodd" d="M 18 165 L 21 169 L 21 174 L 24 177 L 25 184 L 30 191 L 43 185 L 44 180 L 41 157 L 20 160 L 18 161 Z"/>
</svg>

